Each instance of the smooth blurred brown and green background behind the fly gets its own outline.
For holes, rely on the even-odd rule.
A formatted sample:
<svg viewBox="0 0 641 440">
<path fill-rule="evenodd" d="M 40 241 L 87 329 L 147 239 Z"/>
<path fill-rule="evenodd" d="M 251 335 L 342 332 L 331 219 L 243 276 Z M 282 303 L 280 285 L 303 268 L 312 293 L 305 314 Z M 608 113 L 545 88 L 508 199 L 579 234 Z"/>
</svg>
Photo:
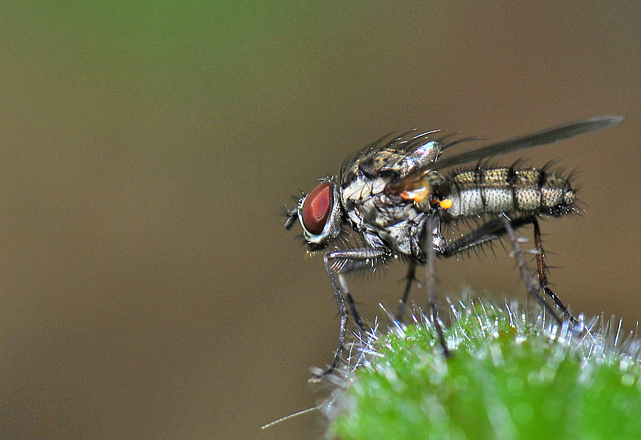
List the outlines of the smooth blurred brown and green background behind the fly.
<svg viewBox="0 0 641 440">
<path fill-rule="evenodd" d="M 0 438 L 320 436 L 320 414 L 259 428 L 324 397 L 308 370 L 338 335 L 280 213 L 412 127 L 625 115 L 496 162 L 578 171 L 587 214 L 541 224 L 551 281 L 641 317 L 637 2 L 29 3 L 0 8 Z M 525 301 L 496 254 L 437 261 L 440 298 Z M 404 271 L 350 276 L 365 318 Z"/>
</svg>

